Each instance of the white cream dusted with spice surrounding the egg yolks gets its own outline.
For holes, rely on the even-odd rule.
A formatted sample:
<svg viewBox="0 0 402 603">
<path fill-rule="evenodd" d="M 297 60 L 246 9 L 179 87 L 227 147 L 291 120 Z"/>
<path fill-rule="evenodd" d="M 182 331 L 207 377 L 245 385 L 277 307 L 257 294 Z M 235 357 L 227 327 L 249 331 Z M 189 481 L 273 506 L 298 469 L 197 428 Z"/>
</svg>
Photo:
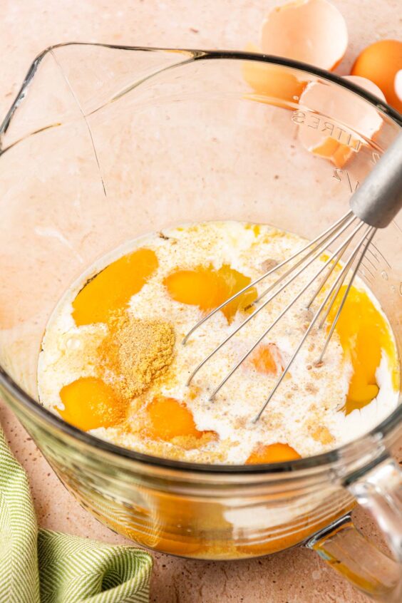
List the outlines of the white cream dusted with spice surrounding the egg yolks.
<svg viewBox="0 0 402 603">
<path fill-rule="evenodd" d="M 200 320 L 202 313 L 197 306 L 173 300 L 163 284 L 165 277 L 177 267 L 193 269 L 199 265 L 212 265 L 219 269 L 222 264 L 230 264 L 242 274 L 256 279 L 264 272 L 265 260 L 275 259 L 281 262 L 304 246 L 305 241 L 294 234 L 279 232 L 268 226 L 253 229 L 250 225 L 239 222 L 184 225 L 164 231 L 164 235 L 168 239 L 150 234 L 125 243 L 83 274 L 59 302 L 48 322 L 38 362 L 38 391 L 44 406 L 57 412 L 57 408 L 63 408 L 59 396 L 63 386 L 80 376 L 96 375 L 96 350 L 108 327 L 105 324 L 78 327 L 74 323 L 71 304 L 83 283 L 123 254 L 138 247 L 148 247 L 157 254 L 159 267 L 143 289 L 130 299 L 129 311 L 136 318 L 172 321 L 177 341 L 172 366 L 175 380 L 163 385 L 160 392 L 152 386 L 143 395 L 143 402 L 148 403 L 155 393 L 185 400 L 197 429 L 215 431 L 219 440 L 208 443 L 202 449 L 177 450 L 170 443 L 155 445 L 140 438 L 138 433 L 123 431 L 118 427 L 99 428 L 92 431 L 94 435 L 145 453 L 174 456 L 182 460 L 241 464 L 261 443 L 287 443 L 302 456 L 335 448 L 369 431 L 396 407 L 398 393 L 393 390 L 391 368 L 383 355 L 377 371 L 379 392 L 376 400 L 348 416 L 339 411 L 346 400 L 351 365 L 344 361 L 335 332 L 326 352 L 324 365 L 319 368 L 314 366 L 326 337 L 325 331 L 319 329 L 311 332 L 289 371 L 290 377 L 283 381 L 257 424 L 252 423 L 252 419 L 274 387 L 277 376 L 257 373 L 244 363 L 227 381 L 215 400 L 208 401 L 212 389 L 229 373 L 239 356 L 249 349 L 311 278 L 317 269 L 316 263 L 289 284 L 282 294 L 249 321 L 197 373 L 193 385 L 199 388 L 199 393 L 194 399 L 190 399 L 185 384 L 188 376 L 244 320 L 244 314 L 238 312 L 232 324 L 228 324 L 225 316 L 217 312 L 182 346 L 183 337 Z M 276 278 L 277 275 L 273 274 L 259 283 L 258 293 L 261 294 Z M 358 286 L 363 288 L 364 284 L 359 282 Z M 303 326 L 308 318 L 303 309 L 303 301 L 308 296 L 309 292 L 264 340 L 264 343 L 276 344 L 285 360 L 290 358 L 302 336 Z M 133 426 L 134 406 L 133 404 L 133 411 L 129 413 L 129 421 Z M 322 436 L 323 433 L 326 434 L 325 437 Z"/>
</svg>

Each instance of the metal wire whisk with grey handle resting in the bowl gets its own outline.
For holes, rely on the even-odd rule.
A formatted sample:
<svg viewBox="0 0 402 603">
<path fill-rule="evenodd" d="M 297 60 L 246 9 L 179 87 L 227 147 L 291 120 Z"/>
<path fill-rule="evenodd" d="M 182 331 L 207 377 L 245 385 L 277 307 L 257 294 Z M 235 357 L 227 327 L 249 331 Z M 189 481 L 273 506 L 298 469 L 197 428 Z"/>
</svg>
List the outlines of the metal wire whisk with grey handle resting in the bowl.
<svg viewBox="0 0 402 603">
<path fill-rule="evenodd" d="M 230 304 L 231 301 L 237 299 L 240 295 L 247 292 L 248 289 L 254 287 L 254 285 L 258 284 L 265 278 L 267 278 L 270 274 L 277 272 L 283 267 L 287 266 L 287 264 L 292 263 L 294 260 L 296 261 L 292 266 L 283 272 L 279 276 L 279 278 L 273 283 L 270 284 L 267 289 L 259 295 L 259 297 L 254 301 L 253 305 L 257 304 L 263 298 L 265 298 L 268 294 L 269 297 L 264 300 L 262 304 L 260 304 L 257 309 L 255 309 L 252 314 L 249 314 L 247 318 L 242 321 L 242 324 L 237 326 L 234 331 L 230 335 L 222 341 L 222 343 L 217 346 L 212 352 L 198 364 L 194 371 L 192 371 L 190 378 L 187 381 L 187 385 L 190 385 L 192 379 L 195 377 L 196 373 L 200 371 L 200 368 L 204 366 L 211 358 L 214 356 L 217 351 L 222 349 L 227 341 L 232 339 L 232 337 L 237 334 L 239 329 L 251 321 L 254 316 L 256 316 L 262 309 L 269 304 L 274 297 L 277 297 L 290 283 L 292 283 L 299 275 L 306 270 L 317 258 L 321 256 L 325 249 L 331 247 L 331 245 L 336 245 L 339 243 L 331 253 L 329 259 L 321 265 L 321 267 L 316 271 L 314 277 L 312 277 L 304 287 L 297 293 L 296 297 L 292 299 L 292 301 L 278 314 L 278 316 L 274 319 L 272 324 L 269 325 L 268 329 L 262 333 L 262 335 L 254 342 L 252 347 L 247 350 L 246 354 L 242 356 L 241 359 L 235 364 L 230 371 L 230 373 L 225 376 L 223 381 L 215 388 L 215 390 L 210 395 L 210 400 L 215 398 L 216 394 L 220 389 L 225 385 L 228 379 L 233 375 L 237 368 L 244 362 L 247 357 L 252 354 L 252 351 L 261 343 L 264 337 L 269 334 L 274 326 L 277 324 L 279 320 L 281 320 L 287 311 L 294 305 L 294 303 L 313 285 L 316 283 L 316 287 L 314 287 L 314 292 L 309 297 L 309 300 L 306 303 L 306 309 L 311 308 L 311 304 L 313 304 L 316 297 L 319 295 L 319 292 L 323 289 L 323 287 L 328 282 L 328 279 L 334 268 L 341 261 L 346 249 L 349 246 L 354 245 L 351 249 L 350 255 L 346 262 L 342 265 L 339 274 L 337 275 L 334 282 L 329 287 L 328 292 L 326 293 L 323 301 L 319 305 L 319 308 L 315 311 L 309 325 L 304 332 L 304 335 L 301 337 L 299 344 L 297 344 L 297 348 L 294 350 L 291 359 L 288 361 L 287 366 L 285 366 L 282 371 L 281 376 L 279 376 L 277 383 L 275 384 L 272 391 L 270 391 L 269 396 L 264 402 L 261 410 L 254 418 L 253 422 L 257 422 L 264 412 L 265 408 L 267 408 L 267 404 L 271 400 L 274 393 L 279 388 L 280 384 L 284 380 L 289 368 L 292 366 L 294 359 L 299 354 L 301 346 L 303 346 L 304 341 L 309 336 L 309 333 L 313 329 L 314 325 L 319 321 L 319 329 L 322 329 L 331 308 L 334 306 L 334 301 L 338 297 L 339 291 L 344 284 L 346 277 L 348 277 L 346 289 L 344 294 L 341 297 L 341 301 L 338 309 L 336 310 L 336 314 L 334 316 L 334 320 L 331 323 L 331 327 L 329 329 L 329 333 L 324 342 L 323 349 L 319 356 L 319 359 L 316 362 L 316 365 L 319 366 L 324 359 L 325 351 L 329 345 L 329 341 L 331 340 L 331 336 L 334 333 L 334 329 L 337 321 L 339 320 L 339 316 L 344 307 L 346 297 L 349 294 L 351 286 L 354 282 L 354 277 L 356 277 L 359 268 L 361 267 L 361 263 L 366 255 L 369 244 L 371 243 L 374 234 L 376 234 L 376 230 L 378 228 L 384 228 L 388 226 L 388 224 L 393 220 L 393 217 L 396 216 L 398 211 L 402 207 L 402 134 L 398 135 L 398 138 L 394 141 L 391 147 L 384 153 L 381 160 L 377 163 L 377 165 L 373 168 L 370 174 L 366 177 L 361 187 L 352 195 L 350 200 L 351 209 L 347 212 L 343 217 L 341 217 L 334 225 L 327 228 L 324 232 L 319 234 L 313 241 L 306 244 L 302 249 L 285 259 L 284 262 L 277 264 L 277 266 L 268 270 L 261 277 L 255 279 L 251 282 L 247 287 L 244 287 L 236 294 L 232 295 L 229 299 L 217 306 L 214 310 L 212 310 L 207 316 L 202 318 L 192 329 L 187 333 L 185 339 L 183 339 L 182 343 L 186 344 L 190 336 L 194 333 L 196 329 L 205 321 L 210 319 L 217 311 L 220 311 L 227 304 Z M 344 237 L 344 238 L 343 238 Z"/>
</svg>

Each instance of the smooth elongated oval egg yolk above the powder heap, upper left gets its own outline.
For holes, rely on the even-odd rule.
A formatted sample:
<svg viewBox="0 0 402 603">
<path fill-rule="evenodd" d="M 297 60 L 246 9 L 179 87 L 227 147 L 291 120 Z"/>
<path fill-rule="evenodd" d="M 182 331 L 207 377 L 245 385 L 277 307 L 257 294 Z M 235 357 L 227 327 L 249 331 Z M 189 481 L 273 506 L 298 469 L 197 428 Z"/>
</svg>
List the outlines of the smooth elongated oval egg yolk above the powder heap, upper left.
<svg viewBox="0 0 402 603">
<path fill-rule="evenodd" d="M 128 304 L 157 268 L 158 258 L 151 249 L 137 249 L 109 264 L 74 299 L 76 325 L 106 322 L 110 314 Z"/>
</svg>

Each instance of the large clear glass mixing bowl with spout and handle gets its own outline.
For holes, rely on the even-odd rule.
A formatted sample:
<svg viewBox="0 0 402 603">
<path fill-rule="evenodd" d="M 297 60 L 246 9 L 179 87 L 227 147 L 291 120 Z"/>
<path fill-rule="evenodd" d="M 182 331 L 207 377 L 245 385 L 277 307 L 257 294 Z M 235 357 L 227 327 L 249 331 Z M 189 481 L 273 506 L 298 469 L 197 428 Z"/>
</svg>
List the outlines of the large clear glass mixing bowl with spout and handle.
<svg viewBox="0 0 402 603">
<path fill-rule="evenodd" d="M 113 530 L 203 559 L 304 544 L 372 597 L 401 600 L 401 475 L 390 456 L 401 406 L 330 453 L 222 467 L 98 440 L 42 408 L 36 390 L 46 321 L 97 258 L 190 221 L 266 222 L 313 238 L 400 129 L 400 115 L 353 83 L 272 56 L 79 43 L 32 63 L 0 130 L 1 392 L 67 488 Z M 311 133 L 324 140 L 321 156 L 303 143 Z M 360 274 L 400 354 L 401 227 L 399 216 L 377 233 Z M 354 527 L 356 501 L 393 559 Z"/>
</svg>

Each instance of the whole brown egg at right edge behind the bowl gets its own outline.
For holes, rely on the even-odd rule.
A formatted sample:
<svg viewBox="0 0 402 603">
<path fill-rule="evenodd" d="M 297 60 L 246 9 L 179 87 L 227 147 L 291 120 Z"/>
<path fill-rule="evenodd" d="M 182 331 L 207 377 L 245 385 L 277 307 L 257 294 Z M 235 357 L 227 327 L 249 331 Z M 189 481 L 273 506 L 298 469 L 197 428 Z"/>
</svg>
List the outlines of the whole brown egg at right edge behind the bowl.
<svg viewBox="0 0 402 603">
<path fill-rule="evenodd" d="M 380 40 L 361 51 L 351 74 L 374 82 L 383 91 L 387 103 L 402 112 L 402 99 L 396 91 L 396 76 L 401 70 L 402 42 Z"/>
</svg>

